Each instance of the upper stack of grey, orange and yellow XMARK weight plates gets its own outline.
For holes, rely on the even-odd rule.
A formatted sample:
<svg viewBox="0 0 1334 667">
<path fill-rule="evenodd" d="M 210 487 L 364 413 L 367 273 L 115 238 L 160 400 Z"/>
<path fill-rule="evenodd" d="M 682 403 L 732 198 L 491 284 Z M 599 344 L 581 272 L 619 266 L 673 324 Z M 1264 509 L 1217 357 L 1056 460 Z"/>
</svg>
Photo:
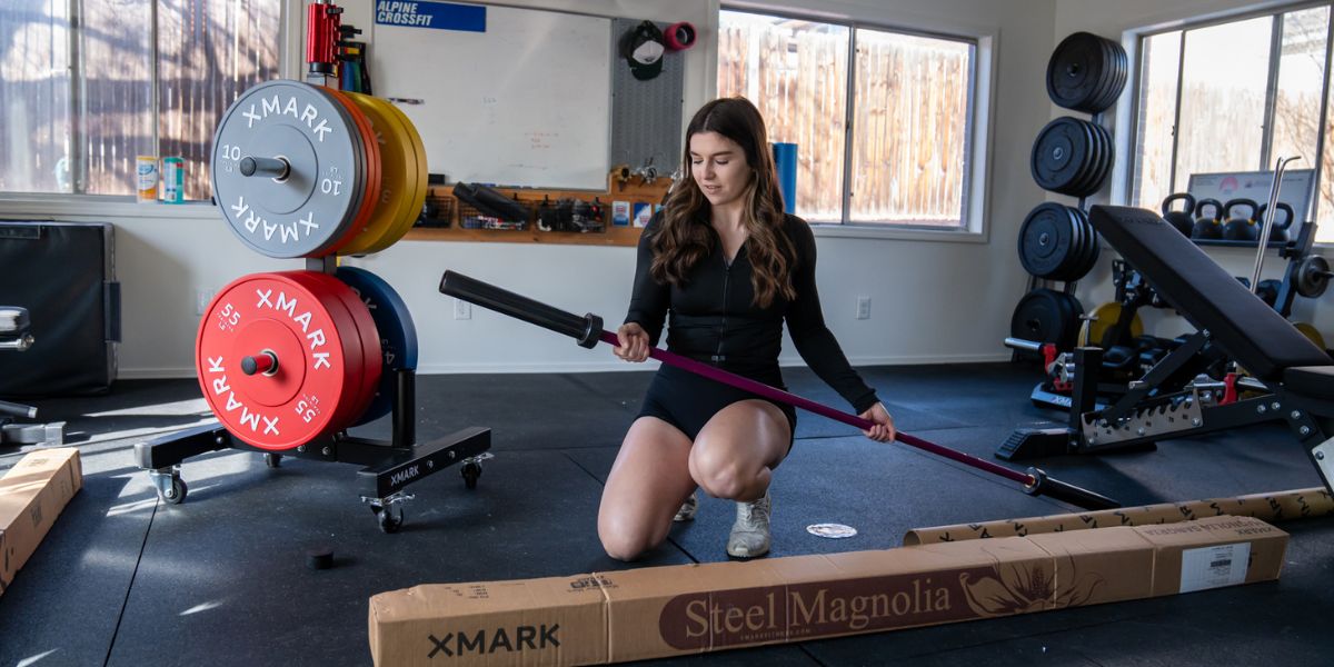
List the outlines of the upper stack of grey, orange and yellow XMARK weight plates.
<svg viewBox="0 0 1334 667">
<path fill-rule="evenodd" d="M 412 227 L 426 149 L 392 104 L 299 81 L 245 91 L 213 136 L 213 197 L 269 257 L 378 252 Z"/>
</svg>

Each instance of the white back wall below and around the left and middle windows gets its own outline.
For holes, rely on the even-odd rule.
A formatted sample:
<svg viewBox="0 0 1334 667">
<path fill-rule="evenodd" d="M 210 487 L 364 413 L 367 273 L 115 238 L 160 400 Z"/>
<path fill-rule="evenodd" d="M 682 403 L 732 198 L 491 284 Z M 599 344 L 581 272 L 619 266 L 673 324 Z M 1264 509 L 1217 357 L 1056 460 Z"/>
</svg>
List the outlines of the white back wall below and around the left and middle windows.
<svg viewBox="0 0 1334 667">
<path fill-rule="evenodd" d="M 700 29 L 700 41 L 683 53 L 688 59 L 683 121 L 712 96 L 715 0 L 511 0 L 507 4 L 659 21 L 688 20 Z M 344 5 L 346 23 L 371 25 L 372 3 Z M 1014 239 L 1023 216 L 1043 196 L 1029 176 L 1027 163 L 1033 136 L 1050 117 L 1039 73 L 1059 32 L 1054 24 L 1055 1 L 807 0 L 747 7 L 819 12 L 994 39 L 987 240 L 871 240 L 818 232 L 819 283 L 826 319 L 854 364 L 1009 359 L 1000 340 L 1026 280 Z M 374 53 L 374 44 L 371 48 Z M 440 68 L 438 76 L 450 76 L 451 71 Z M 211 293 L 243 273 L 297 267 L 296 261 L 272 260 L 245 249 L 220 216 L 204 205 L 0 203 L 0 216 L 15 215 L 105 220 L 117 225 L 116 263 L 124 307 L 121 378 L 191 376 L 199 292 Z M 403 293 L 420 332 L 420 372 L 643 368 L 479 309 L 472 311 L 472 319 L 455 320 L 452 299 L 436 292 L 442 272 L 454 268 L 616 321 L 628 300 L 631 248 L 400 241 L 378 256 L 348 263 L 378 272 Z M 854 317 L 856 296 L 871 297 L 871 319 Z M 800 363 L 790 343 L 782 360 Z"/>
</svg>

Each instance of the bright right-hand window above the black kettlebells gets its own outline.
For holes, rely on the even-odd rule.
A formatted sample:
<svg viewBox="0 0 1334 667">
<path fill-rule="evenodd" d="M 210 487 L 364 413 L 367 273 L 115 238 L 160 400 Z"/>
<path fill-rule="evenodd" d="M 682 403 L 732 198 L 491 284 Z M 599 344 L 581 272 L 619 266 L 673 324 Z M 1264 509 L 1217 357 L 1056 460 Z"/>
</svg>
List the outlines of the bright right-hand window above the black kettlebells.
<svg viewBox="0 0 1334 667">
<path fill-rule="evenodd" d="M 1334 241 L 1327 113 L 1330 5 L 1141 37 L 1134 205 L 1157 209 L 1194 173 L 1315 169 L 1317 240 Z"/>
</svg>

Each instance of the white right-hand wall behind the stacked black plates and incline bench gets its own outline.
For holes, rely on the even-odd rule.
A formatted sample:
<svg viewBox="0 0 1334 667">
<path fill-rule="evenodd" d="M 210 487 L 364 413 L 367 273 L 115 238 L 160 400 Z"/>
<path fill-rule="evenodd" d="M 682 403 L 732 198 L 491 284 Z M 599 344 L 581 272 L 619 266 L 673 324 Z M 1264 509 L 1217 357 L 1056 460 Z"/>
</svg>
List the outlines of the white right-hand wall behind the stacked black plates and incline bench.
<svg viewBox="0 0 1334 667">
<path fill-rule="evenodd" d="M 1118 40 L 1126 47 L 1126 52 L 1131 59 L 1131 68 L 1134 68 L 1137 40 L 1133 36 L 1127 36 L 1127 31 L 1142 31 L 1146 27 L 1170 27 L 1173 24 L 1221 17 L 1259 7 L 1278 7 L 1281 4 L 1285 3 L 1257 3 L 1254 0 L 1121 0 L 1117 3 L 1101 0 L 1057 0 L 1054 39 L 1059 41 L 1071 32 L 1087 31 Z M 1131 145 L 1131 128 L 1134 127 L 1131 107 L 1133 81 L 1126 85 L 1126 92 L 1122 95 L 1121 101 L 1105 113 L 1107 119 L 1105 123 L 1111 128 L 1117 141 L 1117 159 L 1113 165 L 1113 173 L 1107 179 L 1106 185 L 1103 185 L 1103 189 L 1090 197 L 1093 204 L 1125 204 L 1127 201 L 1129 188 L 1126 184 L 1131 168 L 1131 161 L 1127 156 L 1134 153 Z M 1050 108 L 1049 120 L 1069 113 L 1055 105 L 1050 105 Z M 1047 199 L 1074 204 L 1071 197 L 1061 195 L 1047 193 Z M 1231 275 L 1250 277 L 1255 268 L 1254 248 L 1209 247 L 1206 249 Z M 1315 248 L 1315 252 L 1319 253 L 1322 249 Z M 1079 284 L 1077 296 L 1083 303 L 1086 311 L 1115 297 L 1115 287 L 1111 284 L 1111 259 L 1113 253 L 1103 253 L 1094 271 Z M 1281 260 L 1271 251 L 1265 257 L 1265 271 L 1261 277 L 1281 279 L 1285 267 L 1286 261 Z M 1334 312 L 1331 312 L 1329 305 L 1322 307 L 1319 301 L 1319 299 L 1294 300 L 1293 320 L 1309 321 L 1321 332 L 1334 331 Z M 1190 324 L 1170 311 L 1143 308 L 1139 312 L 1145 320 L 1146 334 L 1173 338 L 1178 334 L 1191 331 Z"/>
</svg>

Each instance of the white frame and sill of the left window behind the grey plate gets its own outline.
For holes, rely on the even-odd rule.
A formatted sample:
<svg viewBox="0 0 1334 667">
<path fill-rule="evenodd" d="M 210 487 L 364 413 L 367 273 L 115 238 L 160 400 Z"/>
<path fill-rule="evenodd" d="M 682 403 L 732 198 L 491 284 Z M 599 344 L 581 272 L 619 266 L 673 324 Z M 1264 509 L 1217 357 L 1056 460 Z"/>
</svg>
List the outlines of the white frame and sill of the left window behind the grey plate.
<svg viewBox="0 0 1334 667">
<path fill-rule="evenodd" d="M 305 21 L 293 20 L 292 17 L 304 16 L 303 0 L 279 0 L 279 47 L 277 47 L 277 72 L 280 79 L 293 79 L 293 73 L 301 72 L 301 59 L 303 49 L 299 47 L 305 41 Z M 152 79 L 152 108 L 151 115 L 155 119 L 152 123 L 153 133 L 152 143 L 155 148 L 155 155 L 160 159 L 160 145 L 161 137 L 159 135 L 160 121 L 156 120 L 161 113 L 161 100 L 159 99 L 159 81 L 161 79 L 159 72 L 159 3 L 152 0 L 151 5 L 152 24 L 149 25 L 149 57 L 153 63 L 153 79 Z M 80 105 L 83 104 L 83 92 L 80 89 L 79 81 L 83 76 L 84 61 L 83 55 L 79 51 L 79 36 L 85 29 L 85 23 L 83 15 L 71 17 L 69 25 L 69 68 L 71 68 L 71 91 L 69 91 L 69 105 L 76 115 L 81 115 L 83 111 Z M 80 139 L 79 123 L 72 123 L 71 128 L 71 145 L 79 145 Z M 87 181 L 87 165 L 80 155 L 75 155 L 73 160 L 75 169 L 72 171 L 72 183 Z M 187 200 L 180 204 L 164 204 L 161 201 L 139 201 L 135 193 L 129 195 L 99 195 L 88 192 L 17 192 L 17 191 L 0 191 L 0 205 L 4 207 L 5 216 L 65 216 L 72 217 L 97 217 L 104 219 L 107 216 L 135 216 L 135 217 L 171 217 L 171 219 L 188 219 L 188 220 L 212 220 L 216 219 L 215 205 L 211 200 Z"/>
</svg>

